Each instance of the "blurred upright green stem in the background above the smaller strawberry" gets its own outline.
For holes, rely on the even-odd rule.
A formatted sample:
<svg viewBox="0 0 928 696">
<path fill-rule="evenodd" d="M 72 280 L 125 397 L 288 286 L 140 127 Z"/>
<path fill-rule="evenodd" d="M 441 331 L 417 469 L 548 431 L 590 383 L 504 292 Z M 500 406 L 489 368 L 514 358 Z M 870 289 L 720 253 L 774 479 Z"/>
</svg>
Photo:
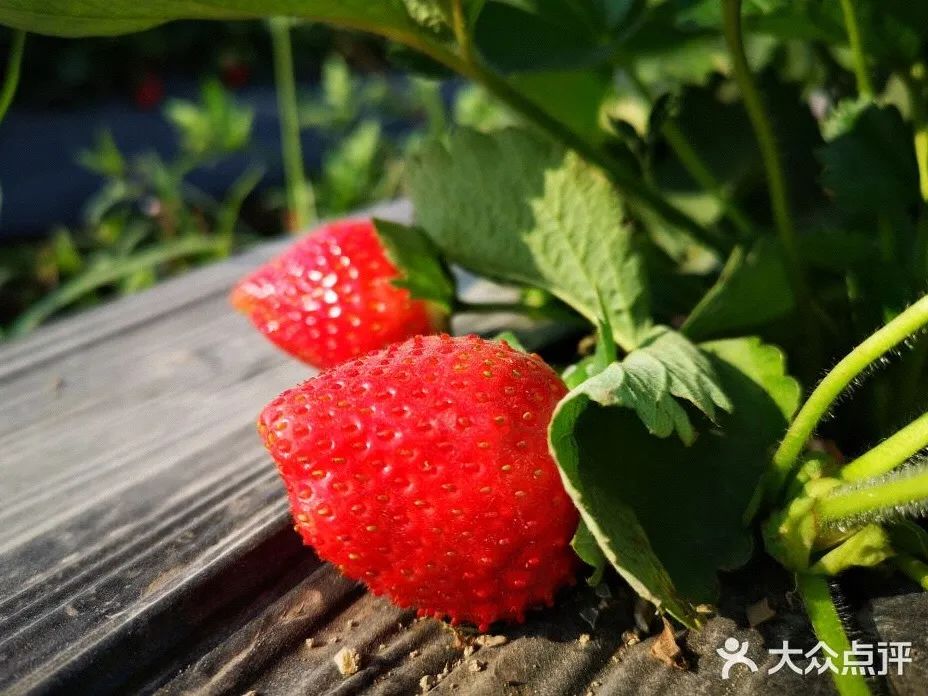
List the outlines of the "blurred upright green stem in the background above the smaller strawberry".
<svg viewBox="0 0 928 696">
<path fill-rule="evenodd" d="M 274 54 L 274 83 L 280 118 L 280 146 L 287 187 L 287 226 L 290 231 L 305 229 L 316 218 L 313 191 L 303 171 L 303 147 L 300 143 L 299 106 L 293 71 L 293 48 L 287 17 L 269 20 L 271 48 Z"/>
</svg>

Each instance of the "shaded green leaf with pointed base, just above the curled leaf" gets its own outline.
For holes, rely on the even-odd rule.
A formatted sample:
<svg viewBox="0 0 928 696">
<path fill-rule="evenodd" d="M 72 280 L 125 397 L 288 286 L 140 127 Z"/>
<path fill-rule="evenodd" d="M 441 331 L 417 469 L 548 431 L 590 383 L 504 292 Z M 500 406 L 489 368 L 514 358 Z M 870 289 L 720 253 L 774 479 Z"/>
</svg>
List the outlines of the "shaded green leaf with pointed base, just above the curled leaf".
<svg viewBox="0 0 928 696">
<path fill-rule="evenodd" d="M 749 250 L 735 248 L 680 330 L 696 340 L 744 333 L 786 316 L 795 304 L 780 246 L 763 237 Z"/>
</svg>

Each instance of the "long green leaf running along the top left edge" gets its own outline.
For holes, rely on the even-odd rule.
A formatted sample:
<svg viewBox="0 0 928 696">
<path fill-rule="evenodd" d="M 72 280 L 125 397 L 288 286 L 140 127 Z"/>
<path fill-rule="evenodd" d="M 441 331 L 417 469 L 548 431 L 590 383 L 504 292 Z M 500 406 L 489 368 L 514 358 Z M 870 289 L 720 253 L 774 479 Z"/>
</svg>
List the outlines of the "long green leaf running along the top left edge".
<svg viewBox="0 0 928 696">
<path fill-rule="evenodd" d="M 39 34 L 106 36 L 176 19 L 302 17 L 381 32 L 416 32 L 402 0 L 3 0 L 0 24 Z"/>
</svg>

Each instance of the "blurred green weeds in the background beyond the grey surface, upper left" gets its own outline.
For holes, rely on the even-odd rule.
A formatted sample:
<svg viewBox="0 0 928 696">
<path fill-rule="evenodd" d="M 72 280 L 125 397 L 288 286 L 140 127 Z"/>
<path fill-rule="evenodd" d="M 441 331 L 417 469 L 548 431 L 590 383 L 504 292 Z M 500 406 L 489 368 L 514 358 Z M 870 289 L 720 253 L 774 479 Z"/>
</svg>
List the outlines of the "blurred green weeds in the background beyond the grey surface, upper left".
<svg viewBox="0 0 928 696">
<path fill-rule="evenodd" d="M 138 292 L 282 232 L 285 197 L 273 189 L 255 193 L 261 168 L 245 169 L 219 199 L 190 181 L 197 170 L 253 149 L 252 111 L 218 79 L 204 83 L 197 101 L 168 100 L 162 111 L 176 133 L 173 157 L 129 157 L 101 132 L 93 148 L 76 154 L 101 177 L 83 224 L 3 248 L 2 336 Z M 512 119 L 478 87 L 460 88 L 446 108 L 440 83 L 360 77 L 338 54 L 324 62 L 319 87 L 301 94 L 299 117 L 301 128 L 327 143 L 322 167 L 310 177 L 320 217 L 400 195 L 406 155 L 449 121 L 491 127 Z"/>
</svg>

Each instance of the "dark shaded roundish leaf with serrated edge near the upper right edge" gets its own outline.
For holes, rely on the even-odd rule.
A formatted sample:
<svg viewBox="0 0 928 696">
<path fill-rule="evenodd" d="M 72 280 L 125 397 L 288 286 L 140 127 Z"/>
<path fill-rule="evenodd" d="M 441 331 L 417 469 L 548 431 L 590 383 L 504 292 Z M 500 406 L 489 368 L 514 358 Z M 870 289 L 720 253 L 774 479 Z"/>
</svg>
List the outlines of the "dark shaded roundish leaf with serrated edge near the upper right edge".
<svg viewBox="0 0 928 696">
<path fill-rule="evenodd" d="M 849 213 L 905 211 L 918 202 L 912 130 L 894 106 L 844 113 L 840 133 L 819 150 L 822 183 Z"/>
</svg>

